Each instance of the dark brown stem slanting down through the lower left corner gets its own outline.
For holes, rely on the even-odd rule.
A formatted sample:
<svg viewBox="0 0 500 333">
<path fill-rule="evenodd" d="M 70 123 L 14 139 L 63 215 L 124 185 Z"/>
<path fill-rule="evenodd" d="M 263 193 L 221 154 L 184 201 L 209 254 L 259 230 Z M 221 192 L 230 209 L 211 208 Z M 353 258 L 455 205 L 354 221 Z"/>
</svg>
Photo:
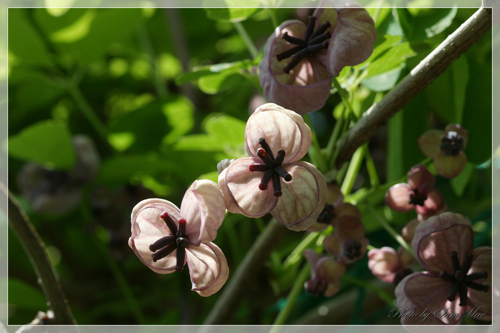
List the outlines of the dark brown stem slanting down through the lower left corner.
<svg viewBox="0 0 500 333">
<path fill-rule="evenodd" d="M 48 301 L 49 307 L 54 313 L 54 320 L 51 324 L 55 325 L 76 325 L 74 318 L 67 305 L 66 298 L 62 292 L 59 280 L 48 260 L 45 245 L 40 236 L 34 229 L 26 213 L 19 207 L 17 201 L 5 184 L 0 182 L 3 193 L 8 197 L 7 217 L 10 226 L 13 228 L 24 250 L 28 254 L 33 267 Z"/>
</svg>

